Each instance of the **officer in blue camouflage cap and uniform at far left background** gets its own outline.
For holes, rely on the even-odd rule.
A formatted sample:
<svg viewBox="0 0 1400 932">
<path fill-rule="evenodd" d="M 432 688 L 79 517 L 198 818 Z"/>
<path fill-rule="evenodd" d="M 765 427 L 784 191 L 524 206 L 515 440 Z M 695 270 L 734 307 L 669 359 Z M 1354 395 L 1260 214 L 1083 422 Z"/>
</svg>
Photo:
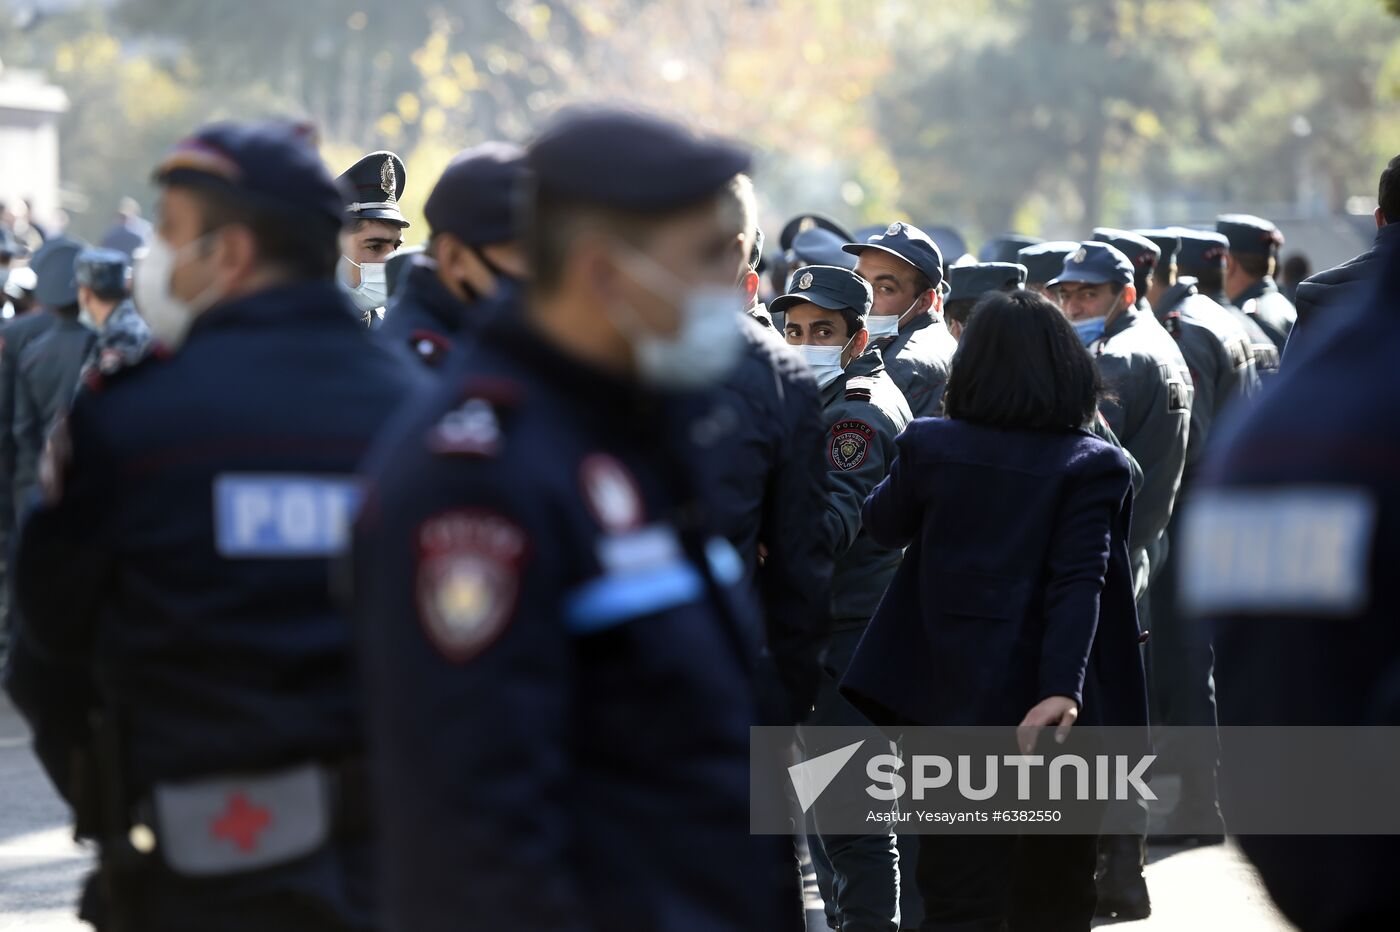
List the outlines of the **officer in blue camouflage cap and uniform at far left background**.
<svg viewBox="0 0 1400 932">
<path fill-rule="evenodd" d="M 129 297 L 130 263 L 115 249 L 84 249 L 77 259 L 78 320 L 97 332 L 84 374 L 134 365 L 150 348 L 151 329 Z"/>
</svg>

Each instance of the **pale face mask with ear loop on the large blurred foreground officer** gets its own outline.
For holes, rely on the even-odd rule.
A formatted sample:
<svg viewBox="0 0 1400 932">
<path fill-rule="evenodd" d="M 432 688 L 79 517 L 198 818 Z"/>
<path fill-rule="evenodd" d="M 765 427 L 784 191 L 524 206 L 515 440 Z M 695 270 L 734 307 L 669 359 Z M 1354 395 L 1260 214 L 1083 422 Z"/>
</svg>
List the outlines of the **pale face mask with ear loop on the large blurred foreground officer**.
<svg viewBox="0 0 1400 932">
<path fill-rule="evenodd" d="M 651 256 L 626 248 L 623 264 L 631 278 L 665 301 L 679 304 L 680 326 L 672 336 L 652 333 L 640 315 L 626 308 L 617 322 L 630 334 L 637 376 L 661 389 L 699 389 L 724 379 L 743 351 L 739 290 L 725 285 L 687 287 Z"/>
</svg>

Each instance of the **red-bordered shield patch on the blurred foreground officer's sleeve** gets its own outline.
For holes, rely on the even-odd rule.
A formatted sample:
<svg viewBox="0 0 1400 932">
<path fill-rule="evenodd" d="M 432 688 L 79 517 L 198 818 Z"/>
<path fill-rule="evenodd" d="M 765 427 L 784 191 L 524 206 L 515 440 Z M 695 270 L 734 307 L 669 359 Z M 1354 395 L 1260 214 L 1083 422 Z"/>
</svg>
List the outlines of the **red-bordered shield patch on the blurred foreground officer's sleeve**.
<svg viewBox="0 0 1400 932">
<path fill-rule="evenodd" d="M 477 656 L 510 626 L 528 551 L 525 530 L 493 511 L 449 511 L 419 528 L 419 620 L 449 662 Z"/>
</svg>

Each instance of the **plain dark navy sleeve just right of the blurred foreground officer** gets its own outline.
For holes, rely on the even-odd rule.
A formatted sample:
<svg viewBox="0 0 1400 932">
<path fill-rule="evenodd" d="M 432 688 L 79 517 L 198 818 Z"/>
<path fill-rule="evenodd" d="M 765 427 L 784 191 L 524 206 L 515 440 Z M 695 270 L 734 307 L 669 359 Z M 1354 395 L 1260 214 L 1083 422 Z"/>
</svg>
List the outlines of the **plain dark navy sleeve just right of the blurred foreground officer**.
<svg viewBox="0 0 1400 932">
<path fill-rule="evenodd" d="M 834 554 L 822 522 L 827 479 L 822 402 L 816 385 L 785 382 L 784 442 L 763 495 L 759 570 L 769 649 L 792 709 L 812 705 L 820 682 L 820 651 L 830 627 Z"/>
</svg>

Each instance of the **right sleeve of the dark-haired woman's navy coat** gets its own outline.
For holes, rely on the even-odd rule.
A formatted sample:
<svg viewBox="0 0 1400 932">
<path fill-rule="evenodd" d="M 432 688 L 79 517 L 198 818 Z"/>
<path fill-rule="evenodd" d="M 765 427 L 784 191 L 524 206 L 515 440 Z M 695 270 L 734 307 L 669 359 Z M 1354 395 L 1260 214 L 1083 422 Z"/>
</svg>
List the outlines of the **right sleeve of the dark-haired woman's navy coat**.
<svg viewBox="0 0 1400 932">
<path fill-rule="evenodd" d="M 1040 698 L 1068 696 L 1084 702 L 1113 521 L 1130 494 L 1126 463 L 1102 462 L 1103 466 L 1075 479 L 1056 518 L 1040 644 Z"/>
</svg>

